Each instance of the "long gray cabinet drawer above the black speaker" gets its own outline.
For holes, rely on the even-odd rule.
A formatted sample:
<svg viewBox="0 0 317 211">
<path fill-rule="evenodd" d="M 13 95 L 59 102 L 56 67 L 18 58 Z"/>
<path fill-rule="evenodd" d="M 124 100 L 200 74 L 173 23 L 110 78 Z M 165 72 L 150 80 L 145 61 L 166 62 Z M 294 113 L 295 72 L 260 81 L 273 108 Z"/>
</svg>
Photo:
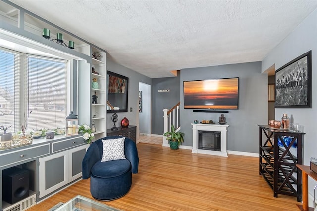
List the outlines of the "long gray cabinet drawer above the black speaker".
<svg viewBox="0 0 317 211">
<path fill-rule="evenodd" d="M 18 163 L 23 160 L 37 158 L 47 154 L 50 154 L 50 144 L 13 151 L 0 155 L 0 166 L 2 167 L 5 165 Z"/>
</svg>

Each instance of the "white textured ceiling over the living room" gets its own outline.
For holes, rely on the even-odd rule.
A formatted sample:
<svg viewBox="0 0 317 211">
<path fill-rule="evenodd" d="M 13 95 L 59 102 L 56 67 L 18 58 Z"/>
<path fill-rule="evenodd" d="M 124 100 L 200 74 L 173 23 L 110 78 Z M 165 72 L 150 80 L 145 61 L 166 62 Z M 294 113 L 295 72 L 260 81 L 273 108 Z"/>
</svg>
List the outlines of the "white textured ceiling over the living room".
<svg viewBox="0 0 317 211">
<path fill-rule="evenodd" d="M 261 61 L 317 1 L 11 0 L 150 78 Z"/>
</svg>

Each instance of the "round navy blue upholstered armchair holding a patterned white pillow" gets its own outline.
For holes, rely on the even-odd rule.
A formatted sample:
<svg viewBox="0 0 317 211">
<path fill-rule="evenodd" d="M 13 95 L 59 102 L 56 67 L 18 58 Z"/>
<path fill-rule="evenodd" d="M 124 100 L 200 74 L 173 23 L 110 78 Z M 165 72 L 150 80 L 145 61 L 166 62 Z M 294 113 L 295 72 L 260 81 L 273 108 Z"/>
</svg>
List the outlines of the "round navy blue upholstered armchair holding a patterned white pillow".
<svg viewBox="0 0 317 211">
<path fill-rule="evenodd" d="M 102 138 L 115 139 L 122 136 Z M 139 156 L 136 144 L 128 138 L 124 141 L 126 159 L 101 162 L 103 142 L 98 139 L 88 148 L 82 162 L 83 179 L 90 177 L 90 193 L 97 200 L 110 201 L 128 193 L 132 173 L 138 173 Z"/>
</svg>

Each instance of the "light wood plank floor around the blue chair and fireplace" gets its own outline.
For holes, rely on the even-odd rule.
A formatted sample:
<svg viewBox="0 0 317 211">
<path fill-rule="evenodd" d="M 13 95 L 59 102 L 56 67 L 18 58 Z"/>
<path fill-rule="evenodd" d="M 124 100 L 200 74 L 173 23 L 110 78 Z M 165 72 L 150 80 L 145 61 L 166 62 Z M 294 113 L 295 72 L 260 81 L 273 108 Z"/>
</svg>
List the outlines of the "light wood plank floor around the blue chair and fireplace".
<svg viewBox="0 0 317 211">
<path fill-rule="evenodd" d="M 278 195 L 259 176 L 258 158 L 228 158 L 137 144 L 139 173 L 124 197 L 102 202 L 126 211 L 298 211 L 296 197 Z M 46 211 L 76 195 L 91 198 L 80 180 L 28 211 Z"/>
</svg>

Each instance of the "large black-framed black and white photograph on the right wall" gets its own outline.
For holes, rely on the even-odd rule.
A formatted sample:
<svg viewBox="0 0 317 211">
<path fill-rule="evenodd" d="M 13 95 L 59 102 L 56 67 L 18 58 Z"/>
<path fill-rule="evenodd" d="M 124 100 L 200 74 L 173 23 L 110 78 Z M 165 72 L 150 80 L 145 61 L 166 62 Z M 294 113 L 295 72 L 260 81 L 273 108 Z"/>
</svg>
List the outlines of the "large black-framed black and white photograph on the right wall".
<svg viewBox="0 0 317 211">
<path fill-rule="evenodd" d="M 275 108 L 312 108 L 312 51 L 275 72 Z"/>
</svg>

